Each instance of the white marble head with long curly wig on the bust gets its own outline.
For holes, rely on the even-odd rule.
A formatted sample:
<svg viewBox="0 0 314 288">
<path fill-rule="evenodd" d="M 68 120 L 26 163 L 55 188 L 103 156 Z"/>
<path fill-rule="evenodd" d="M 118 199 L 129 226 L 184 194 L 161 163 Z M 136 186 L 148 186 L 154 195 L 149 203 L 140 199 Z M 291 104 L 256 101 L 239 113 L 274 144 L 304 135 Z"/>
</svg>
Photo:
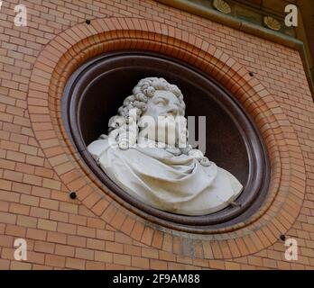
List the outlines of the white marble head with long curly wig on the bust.
<svg viewBox="0 0 314 288">
<path fill-rule="evenodd" d="M 138 132 L 141 134 L 143 130 L 149 135 L 156 135 L 158 139 L 161 137 L 167 142 L 168 139 L 163 133 L 167 134 L 167 129 L 175 130 L 174 120 L 179 118 L 178 116 L 183 118 L 184 113 L 185 103 L 177 85 L 171 85 L 163 78 L 143 78 L 134 87 L 133 94 L 125 98 L 123 105 L 118 109 L 118 115 L 110 119 L 109 132 L 114 132 L 115 137 L 120 135 L 120 139 L 124 138 L 121 135 L 125 131 L 123 129 L 125 124 L 130 124 L 130 121 L 138 121 L 135 131 L 128 128 L 128 138 L 131 139 L 131 142 L 136 139 L 133 139 L 133 135 L 130 134 Z M 161 121 L 161 119 L 166 121 Z M 165 124 L 166 122 L 167 124 Z M 148 136 L 148 138 L 150 137 Z"/>
</svg>

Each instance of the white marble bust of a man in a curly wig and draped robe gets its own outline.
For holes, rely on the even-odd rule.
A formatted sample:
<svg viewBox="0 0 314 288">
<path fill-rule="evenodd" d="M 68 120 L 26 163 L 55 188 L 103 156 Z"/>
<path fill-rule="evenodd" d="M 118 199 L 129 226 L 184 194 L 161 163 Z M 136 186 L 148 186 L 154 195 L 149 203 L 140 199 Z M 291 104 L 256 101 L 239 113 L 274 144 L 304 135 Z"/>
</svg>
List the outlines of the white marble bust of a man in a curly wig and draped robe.
<svg viewBox="0 0 314 288">
<path fill-rule="evenodd" d="M 115 184 L 154 208 L 183 215 L 220 211 L 243 186 L 187 144 L 184 114 L 177 85 L 144 78 L 88 151 Z"/>
</svg>

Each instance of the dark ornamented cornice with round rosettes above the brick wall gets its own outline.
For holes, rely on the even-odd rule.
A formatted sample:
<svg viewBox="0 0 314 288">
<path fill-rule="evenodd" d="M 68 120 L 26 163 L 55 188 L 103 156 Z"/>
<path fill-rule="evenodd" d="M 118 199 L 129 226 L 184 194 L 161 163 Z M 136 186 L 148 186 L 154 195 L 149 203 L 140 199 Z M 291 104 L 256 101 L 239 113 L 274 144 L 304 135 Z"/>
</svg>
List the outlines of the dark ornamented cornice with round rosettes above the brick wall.
<svg viewBox="0 0 314 288">
<path fill-rule="evenodd" d="M 261 0 L 245 1 L 245 4 L 243 4 L 243 1 L 235 2 L 235 0 L 156 1 L 189 12 L 190 14 L 196 14 L 211 21 L 224 24 L 236 30 L 250 33 L 265 40 L 271 40 L 292 49 L 298 49 L 308 78 L 309 88 L 314 99 L 314 76 L 311 73 L 313 64 L 308 43 L 306 37 L 304 37 L 303 23 L 300 21 L 300 27 L 298 27 L 297 30 L 285 26 L 285 14 L 283 9 L 282 14 L 278 13 L 278 11 L 271 11 L 269 8 L 261 6 Z M 275 2 L 276 1 L 272 1 L 273 4 Z M 266 19 L 266 17 L 268 18 Z"/>
</svg>

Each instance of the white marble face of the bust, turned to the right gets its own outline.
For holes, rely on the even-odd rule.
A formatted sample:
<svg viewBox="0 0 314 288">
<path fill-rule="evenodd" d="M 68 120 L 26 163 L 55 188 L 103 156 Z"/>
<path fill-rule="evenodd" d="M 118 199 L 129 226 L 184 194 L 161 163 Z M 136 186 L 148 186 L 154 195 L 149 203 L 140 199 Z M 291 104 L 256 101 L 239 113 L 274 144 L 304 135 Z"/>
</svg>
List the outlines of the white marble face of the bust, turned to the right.
<svg viewBox="0 0 314 288">
<path fill-rule="evenodd" d="M 184 107 L 170 91 L 156 91 L 148 100 L 142 115 L 147 137 L 158 142 L 176 145 L 180 135 L 178 119 L 184 116 Z M 178 117 L 180 116 L 180 117 Z"/>
</svg>

